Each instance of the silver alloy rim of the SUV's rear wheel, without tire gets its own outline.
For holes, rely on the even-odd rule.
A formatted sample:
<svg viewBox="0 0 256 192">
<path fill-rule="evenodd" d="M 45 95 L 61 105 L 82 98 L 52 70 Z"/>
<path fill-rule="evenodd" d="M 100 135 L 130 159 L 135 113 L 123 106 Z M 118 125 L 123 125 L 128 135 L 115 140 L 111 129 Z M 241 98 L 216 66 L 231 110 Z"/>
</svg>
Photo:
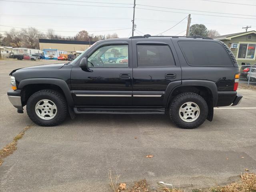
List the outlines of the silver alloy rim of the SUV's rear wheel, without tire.
<svg viewBox="0 0 256 192">
<path fill-rule="evenodd" d="M 180 107 L 179 115 L 183 121 L 193 122 L 199 117 L 200 108 L 194 102 L 186 102 Z"/>
</svg>

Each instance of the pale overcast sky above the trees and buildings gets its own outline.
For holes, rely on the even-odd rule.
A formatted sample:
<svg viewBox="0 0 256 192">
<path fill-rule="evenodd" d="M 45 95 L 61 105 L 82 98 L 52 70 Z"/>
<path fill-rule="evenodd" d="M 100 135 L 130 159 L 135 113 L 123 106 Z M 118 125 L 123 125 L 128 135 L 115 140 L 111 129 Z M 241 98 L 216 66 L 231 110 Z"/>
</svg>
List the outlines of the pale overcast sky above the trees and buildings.
<svg viewBox="0 0 256 192">
<path fill-rule="evenodd" d="M 0 32 L 34 27 L 42 33 L 51 28 L 61 36 L 87 30 L 94 35 L 115 32 L 125 38 L 132 35 L 133 3 L 134 0 L 0 0 Z M 204 24 L 221 35 L 244 32 L 245 26 L 252 26 L 248 31 L 256 30 L 256 0 L 136 0 L 134 35 L 183 36 L 188 14 L 191 25 Z"/>
</svg>

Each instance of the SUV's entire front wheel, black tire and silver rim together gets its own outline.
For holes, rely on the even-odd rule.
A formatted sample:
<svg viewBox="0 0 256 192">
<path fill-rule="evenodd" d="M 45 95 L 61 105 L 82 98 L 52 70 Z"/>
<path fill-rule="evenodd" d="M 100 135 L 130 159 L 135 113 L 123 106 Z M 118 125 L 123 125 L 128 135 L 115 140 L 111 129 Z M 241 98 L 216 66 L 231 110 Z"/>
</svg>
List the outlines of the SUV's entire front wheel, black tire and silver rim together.
<svg viewBox="0 0 256 192">
<path fill-rule="evenodd" d="M 29 118 L 40 126 L 55 126 L 66 119 L 67 104 L 64 96 L 55 90 L 40 90 L 27 102 Z"/>
</svg>

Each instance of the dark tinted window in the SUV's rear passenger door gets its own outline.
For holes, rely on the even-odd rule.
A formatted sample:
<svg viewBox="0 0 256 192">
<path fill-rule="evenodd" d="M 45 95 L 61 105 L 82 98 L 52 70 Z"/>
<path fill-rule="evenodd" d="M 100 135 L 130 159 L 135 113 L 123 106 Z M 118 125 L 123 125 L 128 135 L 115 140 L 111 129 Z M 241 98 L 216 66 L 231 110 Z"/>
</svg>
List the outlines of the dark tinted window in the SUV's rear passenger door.
<svg viewBox="0 0 256 192">
<path fill-rule="evenodd" d="M 168 45 L 137 45 L 138 67 L 174 66 Z"/>
</svg>

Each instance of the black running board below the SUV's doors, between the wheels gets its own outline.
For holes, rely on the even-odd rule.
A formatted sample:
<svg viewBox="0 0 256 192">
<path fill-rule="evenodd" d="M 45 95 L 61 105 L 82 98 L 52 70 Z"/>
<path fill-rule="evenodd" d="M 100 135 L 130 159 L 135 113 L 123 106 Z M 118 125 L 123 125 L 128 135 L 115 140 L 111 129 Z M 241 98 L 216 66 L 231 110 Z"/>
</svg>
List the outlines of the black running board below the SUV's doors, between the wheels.
<svg viewBox="0 0 256 192">
<path fill-rule="evenodd" d="M 101 114 L 164 114 L 165 108 L 88 108 L 74 107 L 76 114 L 101 113 Z"/>
</svg>

